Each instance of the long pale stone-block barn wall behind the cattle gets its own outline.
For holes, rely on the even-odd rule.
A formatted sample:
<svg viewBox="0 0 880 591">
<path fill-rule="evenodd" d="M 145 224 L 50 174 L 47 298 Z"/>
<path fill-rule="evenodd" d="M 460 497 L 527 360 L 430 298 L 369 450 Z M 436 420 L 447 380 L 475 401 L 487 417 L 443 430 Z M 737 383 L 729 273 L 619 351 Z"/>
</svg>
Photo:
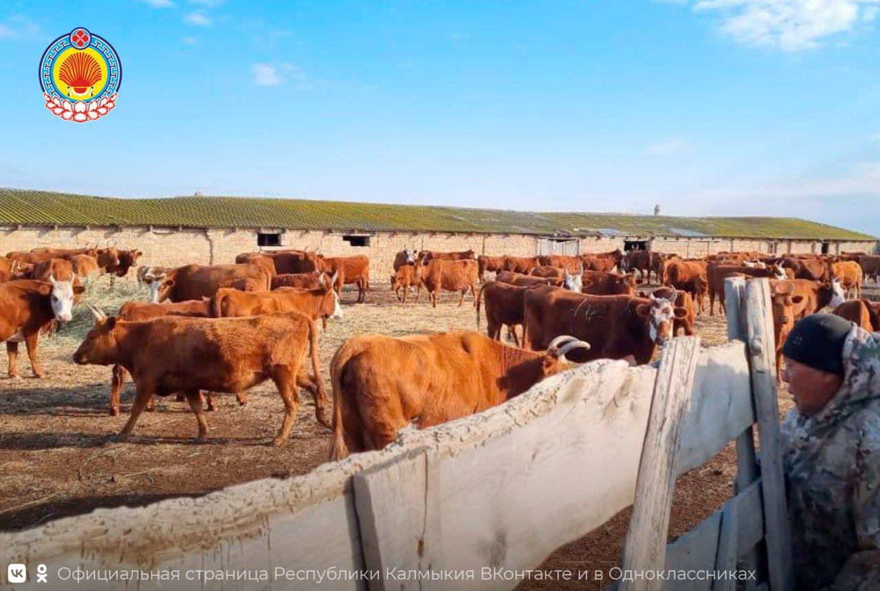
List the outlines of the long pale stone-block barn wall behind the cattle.
<svg viewBox="0 0 880 591">
<path fill-rule="evenodd" d="M 191 263 L 232 263 L 240 252 L 259 250 L 255 229 L 195 229 L 160 227 L 7 226 L 0 227 L 0 253 L 33 248 L 84 247 L 114 244 L 143 252 L 146 265 L 180 266 Z M 364 235 L 366 236 L 366 235 Z M 370 278 L 387 281 L 394 255 L 404 248 L 434 251 L 465 251 L 478 254 L 533 256 L 540 237 L 517 234 L 454 234 L 447 232 L 375 232 L 369 245 L 352 246 L 341 233 L 330 230 L 286 230 L 282 248 L 311 247 L 327 256 L 365 254 L 370 257 Z M 626 240 L 645 240 L 652 250 L 701 257 L 722 251 L 821 252 L 821 241 L 705 237 L 582 237 L 580 252 L 623 250 Z M 876 241 L 830 243 L 830 252 L 876 252 Z"/>
</svg>

